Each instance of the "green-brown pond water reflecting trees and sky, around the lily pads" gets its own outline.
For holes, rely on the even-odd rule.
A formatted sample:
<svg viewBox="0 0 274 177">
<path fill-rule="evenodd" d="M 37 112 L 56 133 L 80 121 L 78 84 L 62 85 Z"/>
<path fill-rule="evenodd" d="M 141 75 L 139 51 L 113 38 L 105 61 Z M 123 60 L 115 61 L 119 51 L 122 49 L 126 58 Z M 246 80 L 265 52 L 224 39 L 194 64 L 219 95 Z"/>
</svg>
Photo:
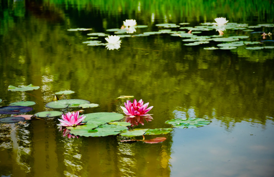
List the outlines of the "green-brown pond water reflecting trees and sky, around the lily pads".
<svg viewBox="0 0 274 177">
<path fill-rule="evenodd" d="M 272 35 L 226 29 L 221 38 L 245 35 L 239 41 L 265 41 L 232 50 L 206 50 L 224 42 L 187 46 L 170 34 L 124 37 L 120 49 L 88 46 L 83 42 L 114 35 L 135 19 L 137 35 L 144 32 L 201 26 L 226 17 L 229 22 L 257 26 L 274 23 L 269 1 L 115 1 L 115 0 L 2 0 L 0 7 L 0 106 L 34 101 L 26 114 L 79 108 L 45 107 L 55 92 L 75 91 L 62 99 L 84 99 L 99 107 L 84 114 L 116 112 L 134 95 L 154 106 L 152 121 L 133 128 L 172 128 L 167 120 L 204 118 L 199 128 L 174 128 L 157 144 L 125 143 L 137 137 L 63 137 L 60 116 L 26 123 L 0 124 L 0 176 L 274 176 L 274 46 Z M 175 28 L 161 23 L 190 23 Z M 68 29 L 91 28 L 87 31 Z M 274 34 L 274 27 L 246 29 Z M 194 31 L 194 30 L 193 30 Z M 125 34 L 121 34 L 125 35 Z M 197 36 L 219 35 L 214 29 Z M 98 39 L 87 39 L 98 37 Z M 213 38 L 213 37 L 212 37 Z M 211 39 L 212 39 L 211 38 Z M 191 42 L 193 43 L 193 42 Z M 8 91 L 8 86 L 40 86 L 34 91 Z M 58 95 L 61 97 L 61 95 Z M 134 98 L 129 98 L 133 101 Z M 9 117 L 0 114 L 0 118 Z"/>
</svg>

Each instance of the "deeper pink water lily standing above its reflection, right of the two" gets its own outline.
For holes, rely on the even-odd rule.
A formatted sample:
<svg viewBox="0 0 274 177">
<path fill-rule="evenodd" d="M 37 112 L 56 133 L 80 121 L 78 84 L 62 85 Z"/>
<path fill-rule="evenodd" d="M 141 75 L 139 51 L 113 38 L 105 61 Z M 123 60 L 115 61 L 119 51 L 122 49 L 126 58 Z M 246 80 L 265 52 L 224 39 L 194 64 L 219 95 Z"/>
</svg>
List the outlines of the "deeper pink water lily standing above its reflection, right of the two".
<svg viewBox="0 0 274 177">
<path fill-rule="evenodd" d="M 136 115 L 140 116 L 147 116 L 152 114 L 147 114 L 153 106 L 147 108 L 149 103 L 144 104 L 143 100 L 141 99 L 138 103 L 136 99 L 134 99 L 133 103 L 130 100 L 127 100 L 127 103 L 124 103 L 126 107 L 120 106 L 123 109 L 124 113 L 129 115 L 129 117 L 135 117 Z M 144 104 L 144 105 L 143 105 Z"/>
</svg>

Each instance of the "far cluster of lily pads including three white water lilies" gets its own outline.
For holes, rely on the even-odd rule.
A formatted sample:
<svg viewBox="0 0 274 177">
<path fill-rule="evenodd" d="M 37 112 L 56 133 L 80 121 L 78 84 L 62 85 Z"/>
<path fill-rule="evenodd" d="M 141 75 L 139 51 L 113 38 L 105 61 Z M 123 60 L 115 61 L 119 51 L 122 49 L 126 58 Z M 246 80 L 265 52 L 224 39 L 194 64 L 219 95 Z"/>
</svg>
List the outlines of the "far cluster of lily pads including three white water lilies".
<svg viewBox="0 0 274 177">
<path fill-rule="evenodd" d="M 253 44 L 263 44 L 263 40 L 260 41 L 239 41 L 242 39 L 249 38 L 249 36 L 246 35 L 237 35 L 237 36 L 229 36 L 229 37 L 223 37 L 224 30 L 242 30 L 244 32 L 252 32 L 254 31 L 253 29 L 257 28 L 262 28 L 262 27 L 274 27 L 274 24 L 259 24 L 257 26 L 248 26 L 248 24 L 240 24 L 240 23 L 228 23 L 226 18 L 220 17 L 215 19 L 216 23 L 201 23 L 200 26 L 187 26 L 190 23 L 179 23 L 179 25 L 173 24 L 173 23 L 164 23 L 164 24 L 156 24 L 160 29 L 159 31 L 149 31 L 149 32 L 143 32 L 142 34 L 133 34 L 132 33 L 136 32 L 136 28 L 146 28 L 148 26 L 146 25 L 137 25 L 135 20 L 126 20 L 124 21 L 124 25 L 119 28 L 115 29 L 108 29 L 106 31 L 108 32 L 114 32 L 114 36 L 110 34 L 105 34 L 105 33 L 89 33 L 88 35 L 91 36 L 108 36 L 108 38 L 105 38 L 108 43 L 101 43 L 99 40 L 90 40 L 90 41 L 85 41 L 83 43 L 88 44 L 89 46 L 97 46 L 97 45 L 106 45 L 106 48 L 109 50 L 113 49 L 119 49 L 121 45 L 121 40 L 120 38 L 123 37 L 139 37 L 139 36 L 149 36 L 149 35 L 156 35 L 156 34 L 170 34 L 171 36 L 176 36 L 180 38 L 187 38 L 182 41 L 184 42 L 191 42 L 191 43 L 186 43 L 184 45 L 187 46 L 195 46 L 195 45 L 200 45 L 200 44 L 208 44 L 210 41 L 216 41 L 216 42 L 231 42 L 231 43 L 222 43 L 222 44 L 217 44 L 217 47 L 204 47 L 206 50 L 214 50 L 214 49 L 224 49 L 224 50 L 230 50 L 230 49 L 236 49 L 238 46 L 241 45 L 253 45 Z M 171 29 L 161 29 L 161 28 L 179 28 L 180 31 L 177 30 L 171 30 Z M 79 28 L 78 28 L 79 29 Z M 75 31 L 77 29 L 69 29 L 69 31 Z M 85 30 L 82 29 L 81 30 Z M 86 30 L 91 30 L 91 29 L 86 29 Z M 187 31 L 184 31 L 187 30 Z M 196 34 L 202 33 L 202 31 L 210 31 L 210 30 L 216 30 L 219 31 L 219 35 L 210 35 L 210 36 L 199 36 Z M 127 34 L 125 34 L 127 33 Z M 264 33 L 263 31 L 261 32 L 252 32 L 252 33 L 258 33 L 262 34 L 263 39 L 266 39 L 266 36 L 271 36 L 271 33 Z M 125 34 L 125 35 L 124 35 Z M 117 35 L 117 36 L 116 36 Z M 90 37 L 89 39 L 98 39 L 98 37 Z M 273 40 L 267 40 L 267 41 L 272 41 Z M 219 47 L 219 48 L 218 48 Z M 247 47 L 245 49 L 249 50 L 257 50 L 257 49 L 273 49 L 274 46 L 259 46 L 259 47 Z"/>
</svg>

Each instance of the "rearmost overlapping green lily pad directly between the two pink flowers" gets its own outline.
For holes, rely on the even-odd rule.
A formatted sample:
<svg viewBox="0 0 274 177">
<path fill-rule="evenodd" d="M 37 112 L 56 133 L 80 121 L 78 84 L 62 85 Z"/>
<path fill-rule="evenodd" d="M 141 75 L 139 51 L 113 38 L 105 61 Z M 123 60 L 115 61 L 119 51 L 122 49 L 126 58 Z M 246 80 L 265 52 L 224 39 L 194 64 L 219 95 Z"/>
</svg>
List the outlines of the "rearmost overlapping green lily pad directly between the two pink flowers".
<svg viewBox="0 0 274 177">
<path fill-rule="evenodd" d="M 124 118 L 123 114 L 118 114 L 118 113 L 90 113 L 90 114 L 84 114 L 84 116 L 86 116 L 85 121 L 103 120 L 107 123 L 118 121 Z"/>
</svg>

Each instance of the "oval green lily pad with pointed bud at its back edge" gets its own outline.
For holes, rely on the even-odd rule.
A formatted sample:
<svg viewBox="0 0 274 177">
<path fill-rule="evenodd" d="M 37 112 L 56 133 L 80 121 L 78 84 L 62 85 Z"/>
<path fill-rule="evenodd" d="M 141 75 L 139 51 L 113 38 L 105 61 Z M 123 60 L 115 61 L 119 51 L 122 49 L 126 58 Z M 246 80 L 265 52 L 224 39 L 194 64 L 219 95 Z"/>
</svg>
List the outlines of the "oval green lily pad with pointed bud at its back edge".
<svg viewBox="0 0 274 177">
<path fill-rule="evenodd" d="M 51 101 L 46 104 L 46 107 L 53 109 L 62 109 L 62 108 L 76 108 L 82 104 L 90 104 L 88 100 L 79 100 L 79 99 L 69 99 L 69 100 L 57 100 Z"/>
</svg>

